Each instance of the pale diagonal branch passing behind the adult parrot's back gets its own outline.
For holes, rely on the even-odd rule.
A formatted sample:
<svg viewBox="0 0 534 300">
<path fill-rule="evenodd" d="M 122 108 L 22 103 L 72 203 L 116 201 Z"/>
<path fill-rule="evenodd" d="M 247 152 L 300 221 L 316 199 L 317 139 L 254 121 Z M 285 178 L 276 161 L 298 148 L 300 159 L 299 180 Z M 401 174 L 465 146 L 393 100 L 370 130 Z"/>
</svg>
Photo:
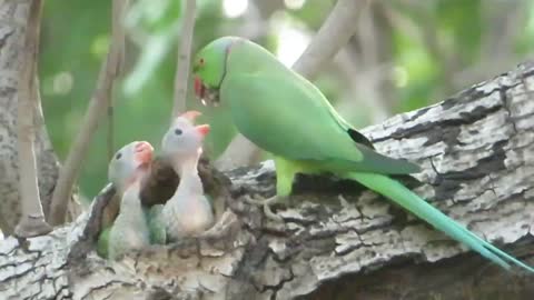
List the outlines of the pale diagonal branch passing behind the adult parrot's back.
<svg viewBox="0 0 534 300">
<path fill-rule="evenodd" d="M 323 64 L 332 60 L 354 34 L 355 22 L 362 7 L 367 2 L 368 0 L 338 0 L 293 69 L 308 80 L 313 80 Z M 258 151 L 254 143 L 238 133 L 215 163 L 221 170 L 230 170 L 250 163 L 254 158 L 259 157 Z"/>
</svg>

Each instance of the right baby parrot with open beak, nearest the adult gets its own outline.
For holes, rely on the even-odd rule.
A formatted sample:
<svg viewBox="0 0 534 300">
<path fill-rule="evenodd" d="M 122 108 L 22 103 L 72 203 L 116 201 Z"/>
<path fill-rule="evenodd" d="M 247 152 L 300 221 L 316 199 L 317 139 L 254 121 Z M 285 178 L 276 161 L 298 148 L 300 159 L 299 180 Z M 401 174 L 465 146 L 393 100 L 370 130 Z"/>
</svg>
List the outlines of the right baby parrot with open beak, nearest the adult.
<svg viewBox="0 0 534 300">
<path fill-rule="evenodd" d="M 201 233 L 215 221 L 197 170 L 202 141 L 209 132 L 208 124 L 194 124 L 199 114 L 187 111 L 176 118 L 161 141 L 164 157 L 180 177 L 180 183 L 165 203 L 161 214 L 169 241 Z"/>
</svg>

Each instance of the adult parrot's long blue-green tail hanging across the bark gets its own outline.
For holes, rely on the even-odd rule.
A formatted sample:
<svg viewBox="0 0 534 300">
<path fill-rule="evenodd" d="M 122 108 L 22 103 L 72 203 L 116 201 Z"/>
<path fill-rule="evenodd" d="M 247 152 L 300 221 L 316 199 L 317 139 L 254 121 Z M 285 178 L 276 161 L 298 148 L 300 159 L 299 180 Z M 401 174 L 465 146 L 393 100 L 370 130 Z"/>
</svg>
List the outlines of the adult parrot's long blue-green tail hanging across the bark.
<svg viewBox="0 0 534 300">
<path fill-rule="evenodd" d="M 365 187 L 392 199 L 394 202 L 427 221 L 436 229 L 445 232 L 451 238 L 467 244 L 473 250 L 501 267 L 510 269 L 511 263 L 514 263 L 534 273 L 534 268 L 518 261 L 514 257 L 477 237 L 464 226 L 448 218 L 409 189 L 400 184 L 400 182 L 377 173 L 352 172 L 345 174 L 345 177 L 356 180 Z"/>
</svg>

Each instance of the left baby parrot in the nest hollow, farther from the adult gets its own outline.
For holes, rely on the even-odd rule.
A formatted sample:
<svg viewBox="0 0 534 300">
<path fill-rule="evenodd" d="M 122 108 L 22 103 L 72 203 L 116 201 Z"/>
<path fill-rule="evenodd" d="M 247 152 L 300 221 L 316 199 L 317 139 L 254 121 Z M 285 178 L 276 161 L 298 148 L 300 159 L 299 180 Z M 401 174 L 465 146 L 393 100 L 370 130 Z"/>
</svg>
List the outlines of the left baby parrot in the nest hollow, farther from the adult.
<svg viewBox="0 0 534 300">
<path fill-rule="evenodd" d="M 111 159 L 108 169 L 109 181 L 122 196 L 119 214 L 108 233 L 110 259 L 150 244 L 150 232 L 141 207 L 139 191 L 141 181 L 148 174 L 154 148 L 146 141 L 136 141 L 122 147 Z"/>
</svg>

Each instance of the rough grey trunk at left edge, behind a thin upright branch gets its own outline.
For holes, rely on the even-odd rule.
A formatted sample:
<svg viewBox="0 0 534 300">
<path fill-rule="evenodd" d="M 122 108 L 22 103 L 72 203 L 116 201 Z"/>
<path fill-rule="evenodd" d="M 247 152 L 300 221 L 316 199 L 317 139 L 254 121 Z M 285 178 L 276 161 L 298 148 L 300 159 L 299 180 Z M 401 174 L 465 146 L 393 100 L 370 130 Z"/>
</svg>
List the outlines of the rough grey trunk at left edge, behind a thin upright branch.
<svg viewBox="0 0 534 300">
<path fill-rule="evenodd" d="M 0 1 L 0 228 L 4 234 L 13 231 L 21 216 L 17 153 L 18 71 L 24 53 L 22 49 L 30 2 Z M 40 102 L 38 99 L 33 120 L 37 129 L 34 146 L 39 194 L 43 212 L 48 216 L 59 166 L 44 127 Z"/>
</svg>

